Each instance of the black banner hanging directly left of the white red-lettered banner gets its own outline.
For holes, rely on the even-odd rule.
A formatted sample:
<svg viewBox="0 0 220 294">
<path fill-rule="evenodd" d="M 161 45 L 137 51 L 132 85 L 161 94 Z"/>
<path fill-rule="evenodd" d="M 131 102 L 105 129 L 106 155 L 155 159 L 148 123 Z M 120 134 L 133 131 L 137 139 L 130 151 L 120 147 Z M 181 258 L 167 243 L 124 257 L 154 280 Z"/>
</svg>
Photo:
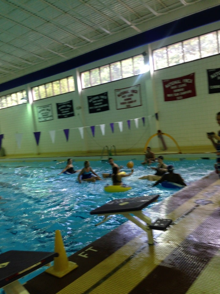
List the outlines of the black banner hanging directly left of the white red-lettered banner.
<svg viewBox="0 0 220 294">
<path fill-rule="evenodd" d="M 87 96 L 89 113 L 97 113 L 109 110 L 108 105 L 108 92 L 98 95 Z"/>
</svg>

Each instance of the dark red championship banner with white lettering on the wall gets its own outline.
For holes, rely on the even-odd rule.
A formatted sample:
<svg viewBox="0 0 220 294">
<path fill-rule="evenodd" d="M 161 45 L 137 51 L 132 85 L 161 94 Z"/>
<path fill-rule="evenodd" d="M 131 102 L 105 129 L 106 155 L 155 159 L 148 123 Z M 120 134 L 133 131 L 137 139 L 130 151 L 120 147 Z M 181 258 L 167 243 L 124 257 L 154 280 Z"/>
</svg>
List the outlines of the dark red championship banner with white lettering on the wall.
<svg viewBox="0 0 220 294">
<path fill-rule="evenodd" d="M 196 96 L 195 73 L 163 80 L 164 101 L 182 100 Z"/>
</svg>

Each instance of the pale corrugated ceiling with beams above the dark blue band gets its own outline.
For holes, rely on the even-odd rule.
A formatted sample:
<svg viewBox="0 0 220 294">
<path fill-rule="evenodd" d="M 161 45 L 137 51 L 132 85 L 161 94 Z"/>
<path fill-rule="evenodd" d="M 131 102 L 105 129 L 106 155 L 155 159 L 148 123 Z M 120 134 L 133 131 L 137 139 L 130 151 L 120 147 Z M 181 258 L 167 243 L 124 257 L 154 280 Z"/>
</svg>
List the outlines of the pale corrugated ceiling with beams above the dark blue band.
<svg viewBox="0 0 220 294">
<path fill-rule="evenodd" d="M 216 5 L 219 0 L 0 0 L 0 82 Z"/>
</svg>

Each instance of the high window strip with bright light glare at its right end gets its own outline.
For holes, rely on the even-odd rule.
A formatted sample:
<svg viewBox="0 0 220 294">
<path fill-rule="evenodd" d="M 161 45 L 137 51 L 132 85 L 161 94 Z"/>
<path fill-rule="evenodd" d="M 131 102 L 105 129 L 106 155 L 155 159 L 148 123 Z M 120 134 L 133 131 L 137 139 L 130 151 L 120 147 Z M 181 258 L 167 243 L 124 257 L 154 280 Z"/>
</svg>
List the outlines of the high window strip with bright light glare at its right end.
<svg viewBox="0 0 220 294">
<path fill-rule="evenodd" d="M 82 89 L 136 76 L 144 72 L 145 63 L 141 54 L 82 72 Z"/>
</svg>

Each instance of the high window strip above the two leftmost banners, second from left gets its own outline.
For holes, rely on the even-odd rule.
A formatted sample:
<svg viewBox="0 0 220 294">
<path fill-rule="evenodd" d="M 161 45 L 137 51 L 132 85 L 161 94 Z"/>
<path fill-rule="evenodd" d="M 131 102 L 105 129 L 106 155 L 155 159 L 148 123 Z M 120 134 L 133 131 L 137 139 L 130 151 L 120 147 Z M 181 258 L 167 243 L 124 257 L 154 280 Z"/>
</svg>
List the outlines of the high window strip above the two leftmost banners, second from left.
<svg viewBox="0 0 220 294">
<path fill-rule="evenodd" d="M 72 76 L 32 88 L 34 100 L 39 100 L 73 91 L 75 91 L 75 84 Z"/>
</svg>

